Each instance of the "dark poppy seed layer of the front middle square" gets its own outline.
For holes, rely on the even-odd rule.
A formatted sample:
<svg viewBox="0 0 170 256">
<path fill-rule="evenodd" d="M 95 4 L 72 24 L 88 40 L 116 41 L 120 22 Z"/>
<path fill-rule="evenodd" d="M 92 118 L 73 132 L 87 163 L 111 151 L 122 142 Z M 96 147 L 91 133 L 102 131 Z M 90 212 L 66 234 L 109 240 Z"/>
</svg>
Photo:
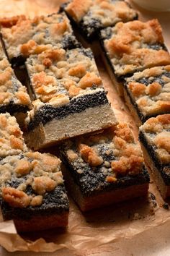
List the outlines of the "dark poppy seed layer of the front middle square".
<svg viewBox="0 0 170 256">
<path fill-rule="evenodd" d="M 114 156 L 107 155 L 105 158 L 102 155 L 104 161 L 112 161 Z M 143 172 L 135 176 L 120 176 L 115 183 L 106 182 L 106 177 L 108 174 L 102 172 L 102 166 L 97 166 L 91 168 L 88 163 L 84 163 L 82 167 L 82 162 L 79 163 L 79 159 L 73 163 L 68 160 L 65 150 L 61 150 L 61 158 L 63 163 L 66 165 L 68 171 L 70 171 L 71 176 L 73 176 L 74 182 L 79 186 L 81 193 L 84 197 L 90 197 L 92 195 L 97 195 L 104 191 L 109 191 L 113 189 L 124 189 L 125 187 L 130 187 L 138 184 L 147 184 L 149 182 L 149 174 L 146 168 L 143 167 Z M 83 173 L 79 174 L 77 170 L 82 169 Z"/>
</svg>

